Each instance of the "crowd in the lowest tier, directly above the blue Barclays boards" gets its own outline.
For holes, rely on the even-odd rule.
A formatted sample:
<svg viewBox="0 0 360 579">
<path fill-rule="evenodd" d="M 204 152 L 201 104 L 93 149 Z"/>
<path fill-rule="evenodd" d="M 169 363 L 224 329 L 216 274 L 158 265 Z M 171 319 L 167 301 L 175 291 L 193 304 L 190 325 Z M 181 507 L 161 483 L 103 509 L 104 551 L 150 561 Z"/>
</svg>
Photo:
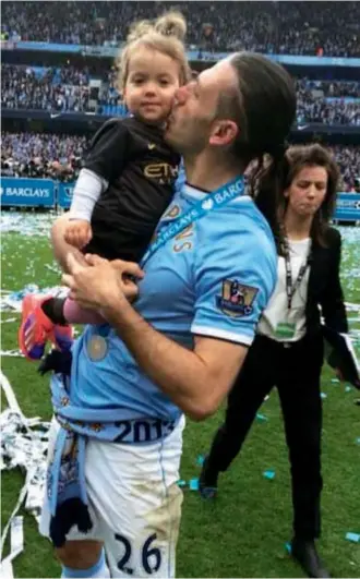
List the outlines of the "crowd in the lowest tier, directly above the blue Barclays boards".
<svg viewBox="0 0 360 579">
<path fill-rule="evenodd" d="M 1 133 L 1 174 L 72 181 L 81 168 L 85 136 L 48 133 Z M 360 192 L 360 147 L 329 147 L 339 164 L 340 191 Z"/>
</svg>

